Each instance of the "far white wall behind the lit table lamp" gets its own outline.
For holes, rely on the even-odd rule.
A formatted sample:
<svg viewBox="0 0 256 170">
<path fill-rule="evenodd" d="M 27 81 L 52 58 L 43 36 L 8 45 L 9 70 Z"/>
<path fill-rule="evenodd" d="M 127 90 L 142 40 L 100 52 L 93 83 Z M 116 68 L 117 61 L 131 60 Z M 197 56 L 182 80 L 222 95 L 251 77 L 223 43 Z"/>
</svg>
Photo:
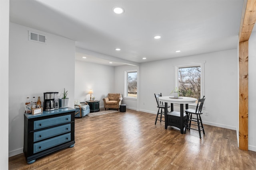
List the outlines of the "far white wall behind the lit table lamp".
<svg viewBox="0 0 256 170">
<path fill-rule="evenodd" d="M 101 64 L 75 61 L 75 100 L 90 100 L 92 89 L 100 107 L 104 107 L 103 98 L 114 92 L 114 67 Z"/>
</svg>

